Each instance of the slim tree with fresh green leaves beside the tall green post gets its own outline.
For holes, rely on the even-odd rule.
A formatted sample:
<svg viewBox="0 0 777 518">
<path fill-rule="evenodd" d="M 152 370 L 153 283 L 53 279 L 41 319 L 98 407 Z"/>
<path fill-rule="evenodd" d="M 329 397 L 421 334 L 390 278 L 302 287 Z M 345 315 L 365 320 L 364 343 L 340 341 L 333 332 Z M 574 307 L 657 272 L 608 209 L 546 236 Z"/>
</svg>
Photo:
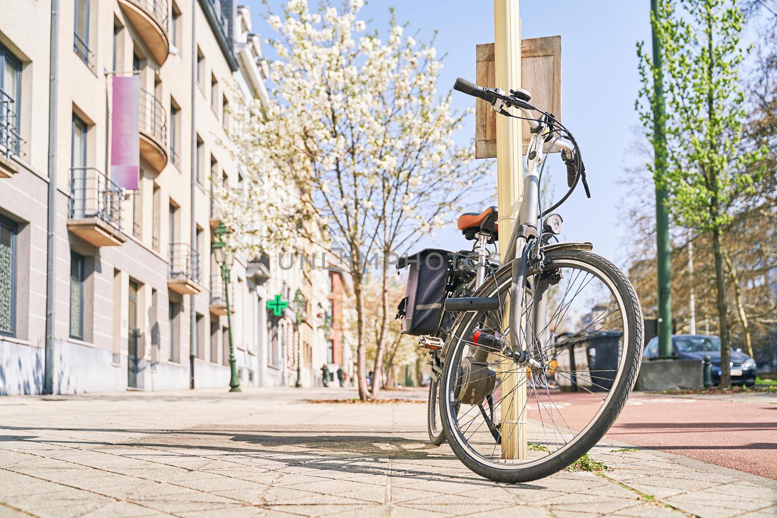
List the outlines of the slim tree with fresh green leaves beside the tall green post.
<svg viewBox="0 0 777 518">
<path fill-rule="evenodd" d="M 736 0 L 664 0 L 653 28 L 664 48 L 666 175 L 656 178 L 668 193 L 676 224 L 709 235 L 715 263 L 720 340 L 720 386 L 730 385 L 730 332 L 722 234 L 741 195 L 752 190 L 758 151 L 740 145 L 746 119 L 740 89 L 744 15 Z M 655 147 L 657 99 L 653 81 L 662 75 L 638 43 L 642 89 L 637 110 Z M 653 167 L 652 165 L 650 167 Z M 656 169 L 653 169 L 656 175 Z"/>
</svg>

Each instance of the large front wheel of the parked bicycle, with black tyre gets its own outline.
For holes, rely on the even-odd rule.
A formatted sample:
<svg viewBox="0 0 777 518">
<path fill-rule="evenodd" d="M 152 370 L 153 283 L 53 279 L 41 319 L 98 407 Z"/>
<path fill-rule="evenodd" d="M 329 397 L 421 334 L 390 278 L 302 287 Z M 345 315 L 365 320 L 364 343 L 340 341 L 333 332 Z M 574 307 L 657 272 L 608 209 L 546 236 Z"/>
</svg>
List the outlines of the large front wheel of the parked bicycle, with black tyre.
<svg viewBox="0 0 777 518">
<path fill-rule="evenodd" d="M 510 268 L 478 290 L 500 308 L 459 316 L 445 344 L 441 417 L 468 468 L 493 481 L 525 482 L 560 471 L 601 440 L 636 381 L 643 316 L 634 289 L 591 252 L 551 249 L 528 276 L 510 351 Z"/>
</svg>

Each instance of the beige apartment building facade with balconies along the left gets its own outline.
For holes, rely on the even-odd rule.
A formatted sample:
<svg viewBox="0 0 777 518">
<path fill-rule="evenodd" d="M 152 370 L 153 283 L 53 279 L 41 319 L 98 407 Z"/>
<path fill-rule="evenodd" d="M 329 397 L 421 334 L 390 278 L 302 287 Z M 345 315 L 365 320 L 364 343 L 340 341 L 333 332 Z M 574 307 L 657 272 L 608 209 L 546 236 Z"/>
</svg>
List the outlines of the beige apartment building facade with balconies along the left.
<svg viewBox="0 0 777 518">
<path fill-rule="evenodd" d="M 227 387 L 227 296 L 242 384 L 294 383 L 301 357 L 315 383 L 318 320 L 305 357 L 296 315 L 267 307 L 291 301 L 304 271 L 239 253 L 225 287 L 211 252 L 223 228 L 211 187 L 246 176 L 230 106 L 268 100 L 261 52 L 231 0 L 3 9 L 0 394 Z M 127 156 L 137 186 L 117 179 Z"/>
</svg>

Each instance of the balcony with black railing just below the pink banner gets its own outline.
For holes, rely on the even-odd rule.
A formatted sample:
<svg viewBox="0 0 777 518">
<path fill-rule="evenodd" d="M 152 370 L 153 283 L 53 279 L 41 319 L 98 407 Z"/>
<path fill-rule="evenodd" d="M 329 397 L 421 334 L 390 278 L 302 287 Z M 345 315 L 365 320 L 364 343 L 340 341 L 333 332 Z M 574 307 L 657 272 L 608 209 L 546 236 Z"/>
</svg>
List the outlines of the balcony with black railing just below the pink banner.
<svg viewBox="0 0 777 518">
<path fill-rule="evenodd" d="M 119 246 L 123 190 L 93 167 L 70 169 L 68 231 L 95 246 Z"/>
</svg>

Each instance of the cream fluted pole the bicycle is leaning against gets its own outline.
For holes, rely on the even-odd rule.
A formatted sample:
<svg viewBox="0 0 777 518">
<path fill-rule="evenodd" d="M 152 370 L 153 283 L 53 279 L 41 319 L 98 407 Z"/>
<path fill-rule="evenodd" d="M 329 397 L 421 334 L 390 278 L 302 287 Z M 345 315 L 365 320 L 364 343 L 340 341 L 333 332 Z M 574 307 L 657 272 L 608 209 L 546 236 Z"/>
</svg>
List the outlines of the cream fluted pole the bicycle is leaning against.
<svg viewBox="0 0 777 518">
<path fill-rule="evenodd" d="M 519 0 L 494 0 L 494 57 L 497 88 L 509 92 L 521 88 L 521 19 Z M 523 187 L 521 120 L 497 117 L 497 200 L 499 203 L 499 252 L 507 252 L 510 232 L 518 213 Z M 506 309 L 509 311 L 509 308 Z M 509 322 L 507 314 L 504 322 Z M 505 324 L 507 325 L 507 324 Z M 526 458 L 526 373 L 512 360 L 500 365 L 503 401 L 502 458 Z M 504 396 L 510 394 L 507 398 Z"/>
</svg>

